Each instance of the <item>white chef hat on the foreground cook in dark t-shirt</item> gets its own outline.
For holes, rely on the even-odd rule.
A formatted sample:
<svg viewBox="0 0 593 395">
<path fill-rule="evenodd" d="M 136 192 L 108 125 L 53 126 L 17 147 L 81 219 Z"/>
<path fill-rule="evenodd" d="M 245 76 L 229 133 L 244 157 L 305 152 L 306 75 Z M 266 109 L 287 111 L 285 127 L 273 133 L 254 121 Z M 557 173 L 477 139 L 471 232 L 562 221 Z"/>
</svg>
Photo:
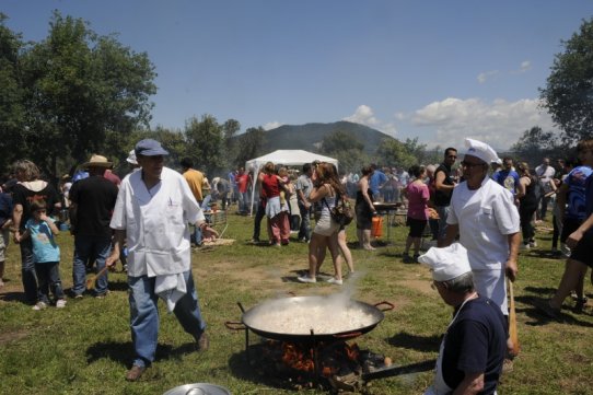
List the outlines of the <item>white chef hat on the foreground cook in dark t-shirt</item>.
<svg viewBox="0 0 593 395">
<path fill-rule="evenodd" d="M 430 267 L 434 281 L 447 281 L 472 271 L 467 249 L 460 243 L 444 248 L 430 248 L 418 262 Z"/>
</svg>

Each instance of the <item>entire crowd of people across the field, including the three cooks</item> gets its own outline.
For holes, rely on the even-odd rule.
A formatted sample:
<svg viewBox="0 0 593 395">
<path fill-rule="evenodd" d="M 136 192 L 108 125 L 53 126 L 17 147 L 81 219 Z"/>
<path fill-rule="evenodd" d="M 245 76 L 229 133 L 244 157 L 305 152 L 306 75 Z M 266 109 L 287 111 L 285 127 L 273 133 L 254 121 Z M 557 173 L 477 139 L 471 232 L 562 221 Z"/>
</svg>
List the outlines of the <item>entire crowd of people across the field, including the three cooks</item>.
<svg viewBox="0 0 593 395">
<path fill-rule="evenodd" d="M 441 347 L 434 385 L 427 393 L 462 387 L 490 391 L 512 359 L 505 329 L 507 282 L 519 275 L 520 249 L 537 247 L 534 224 L 545 221 L 548 210 L 554 225 L 551 253 L 568 259 L 558 291 L 537 307 L 556 318 L 571 292 L 577 309 L 586 303 L 584 279 L 593 266 L 593 140 L 579 142 L 578 158 L 565 160 L 557 170 L 547 158 L 532 170 L 526 162 L 500 160 L 481 141 L 466 139 L 465 146 L 458 163 L 457 149 L 447 148 L 442 163 L 415 165 L 407 172 L 370 164 L 362 166 L 360 175 L 340 176 L 332 163 L 305 163 L 295 171 L 268 162 L 258 174 L 241 167 L 209 182 L 189 158 L 181 161 L 181 172 L 166 167 L 168 152 L 160 142 L 144 139 L 130 151 L 127 162 L 132 169 L 123 179 L 112 171 L 112 162 L 94 154 L 71 177 L 62 177 L 59 190 L 40 179 L 34 163 L 18 161 L 14 179 L 4 183 L 0 194 L 0 287 L 11 231 L 20 246 L 26 301 L 34 310 L 45 310 L 51 304 L 51 292 L 55 306 L 66 306 L 55 236 L 58 224 L 68 218 L 74 237 L 73 299 L 89 294 L 89 267 L 100 275 L 90 294 L 103 299 L 109 291 L 104 269 L 119 260 L 125 265 L 136 352 L 126 379 L 136 381 L 154 360 L 159 299 L 197 347 L 208 348 L 190 251 L 193 244 L 218 236 L 205 211 L 219 200 L 222 209 L 236 204 L 239 214 L 255 211 L 254 242 L 260 241 L 260 222 L 266 218 L 266 244 L 282 247 L 291 234 L 307 243 L 309 269 L 296 281 L 316 282 L 328 251 L 334 276 L 326 281 L 336 286 L 344 283 L 344 262 L 350 274 L 354 264 L 347 225 L 336 221 L 335 208 L 344 199 L 354 200 L 358 247 L 371 253 L 376 247 L 371 236 L 373 218 L 380 214 L 375 206 L 397 202 L 407 210 L 409 228 L 403 262 L 430 266 L 435 289 L 456 309 Z M 427 235 L 437 245 L 422 255 Z M 476 325 L 486 332 L 476 333 Z"/>
</svg>

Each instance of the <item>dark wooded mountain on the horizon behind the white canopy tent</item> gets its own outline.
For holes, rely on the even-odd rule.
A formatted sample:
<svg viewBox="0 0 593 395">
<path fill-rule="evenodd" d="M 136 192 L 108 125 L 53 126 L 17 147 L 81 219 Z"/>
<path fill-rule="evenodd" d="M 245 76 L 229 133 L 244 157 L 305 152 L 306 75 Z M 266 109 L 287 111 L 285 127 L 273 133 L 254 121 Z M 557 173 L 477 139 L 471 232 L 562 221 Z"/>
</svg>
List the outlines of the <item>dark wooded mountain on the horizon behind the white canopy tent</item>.
<svg viewBox="0 0 593 395">
<path fill-rule="evenodd" d="M 282 125 L 264 133 L 263 152 L 276 150 L 318 152 L 324 137 L 338 130 L 356 136 L 364 144 L 364 152 L 369 154 L 375 153 L 382 140 L 393 139 L 376 129 L 346 120 L 332 124 Z"/>
</svg>

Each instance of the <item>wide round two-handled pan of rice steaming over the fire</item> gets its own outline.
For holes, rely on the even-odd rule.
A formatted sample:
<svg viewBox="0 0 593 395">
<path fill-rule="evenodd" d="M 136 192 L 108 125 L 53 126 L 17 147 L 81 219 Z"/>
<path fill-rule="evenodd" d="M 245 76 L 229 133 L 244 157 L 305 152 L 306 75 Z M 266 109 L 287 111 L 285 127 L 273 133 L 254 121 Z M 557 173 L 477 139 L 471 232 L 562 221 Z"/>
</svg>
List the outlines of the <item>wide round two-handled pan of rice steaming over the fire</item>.
<svg viewBox="0 0 593 395">
<path fill-rule="evenodd" d="M 379 309 L 379 305 L 386 305 L 386 309 Z M 295 307 L 298 306 L 298 309 Z M 375 305 L 368 304 L 359 301 L 348 301 L 339 309 L 336 309 L 335 304 L 332 304 L 328 300 L 328 297 L 296 297 L 296 298 L 283 298 L 267 301 L 260 303 L 248 311 L 244 311 L 240 304 L 240 307 L 243 311 L 242 323 L 254 332 L 255 334 L 275 340 L 290 341 L 290 342 L 300 342 L 309 341 L 314 339 L 315 341 L 332 341 L 337 339 L 349 339 L 358 337 L 362 334 L 365 334 L 372 330 L 384 318 L 384 311 L 393 310 L 394 305 L 388 302 L 381 302 Z M 336 317 L 338 314 L 350 314 L 350 316 L 360 314 L 364 315 L 368 324 L 362 327 L 357 326 L 345 326 L 336 327 L 335 330 L 330 333 L 315 333 L 315 322 L 311 322 L 311 330 L 309 333 L 291 333 L 291 332 L 277 332 L 270 330 L 269 325 L 266 325 L 269 317 L 274 317 L 275 312 L 283 312 L 283 314 L 291 311 L 295 312 L 296 310 L 302 312 L 303 307 L 306 309 L 324 309 L 327 307 L 327 313 L 323 314 L 324 317 L 327 317 L 328 321 L 332 317 Z M 294 313 L 299 314 L 299 313 Z M 299 316 L 298 318 L 304 318 L 305 316 Z"/>
</svg>

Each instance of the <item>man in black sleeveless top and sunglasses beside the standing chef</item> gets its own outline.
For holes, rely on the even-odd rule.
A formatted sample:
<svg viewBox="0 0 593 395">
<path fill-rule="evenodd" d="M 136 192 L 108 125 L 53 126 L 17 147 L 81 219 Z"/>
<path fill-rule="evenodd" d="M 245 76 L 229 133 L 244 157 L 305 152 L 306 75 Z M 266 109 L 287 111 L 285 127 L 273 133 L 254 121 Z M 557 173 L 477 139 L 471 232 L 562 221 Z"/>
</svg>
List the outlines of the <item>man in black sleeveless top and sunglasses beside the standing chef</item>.
<svg viewBox="0 0 593 395">
<path fill-rule="evenodd" d="M 451 177 L 451 167 L 456 159 L 457 150 L 452 147 L 447 148 L 443 163 L 434 171 L 434 206 L 437 206 L 437 212 L 439 213 L 439 240 L 445 235 L 451 194 L 455 185 L 457 185 Z"/>
</svg>

